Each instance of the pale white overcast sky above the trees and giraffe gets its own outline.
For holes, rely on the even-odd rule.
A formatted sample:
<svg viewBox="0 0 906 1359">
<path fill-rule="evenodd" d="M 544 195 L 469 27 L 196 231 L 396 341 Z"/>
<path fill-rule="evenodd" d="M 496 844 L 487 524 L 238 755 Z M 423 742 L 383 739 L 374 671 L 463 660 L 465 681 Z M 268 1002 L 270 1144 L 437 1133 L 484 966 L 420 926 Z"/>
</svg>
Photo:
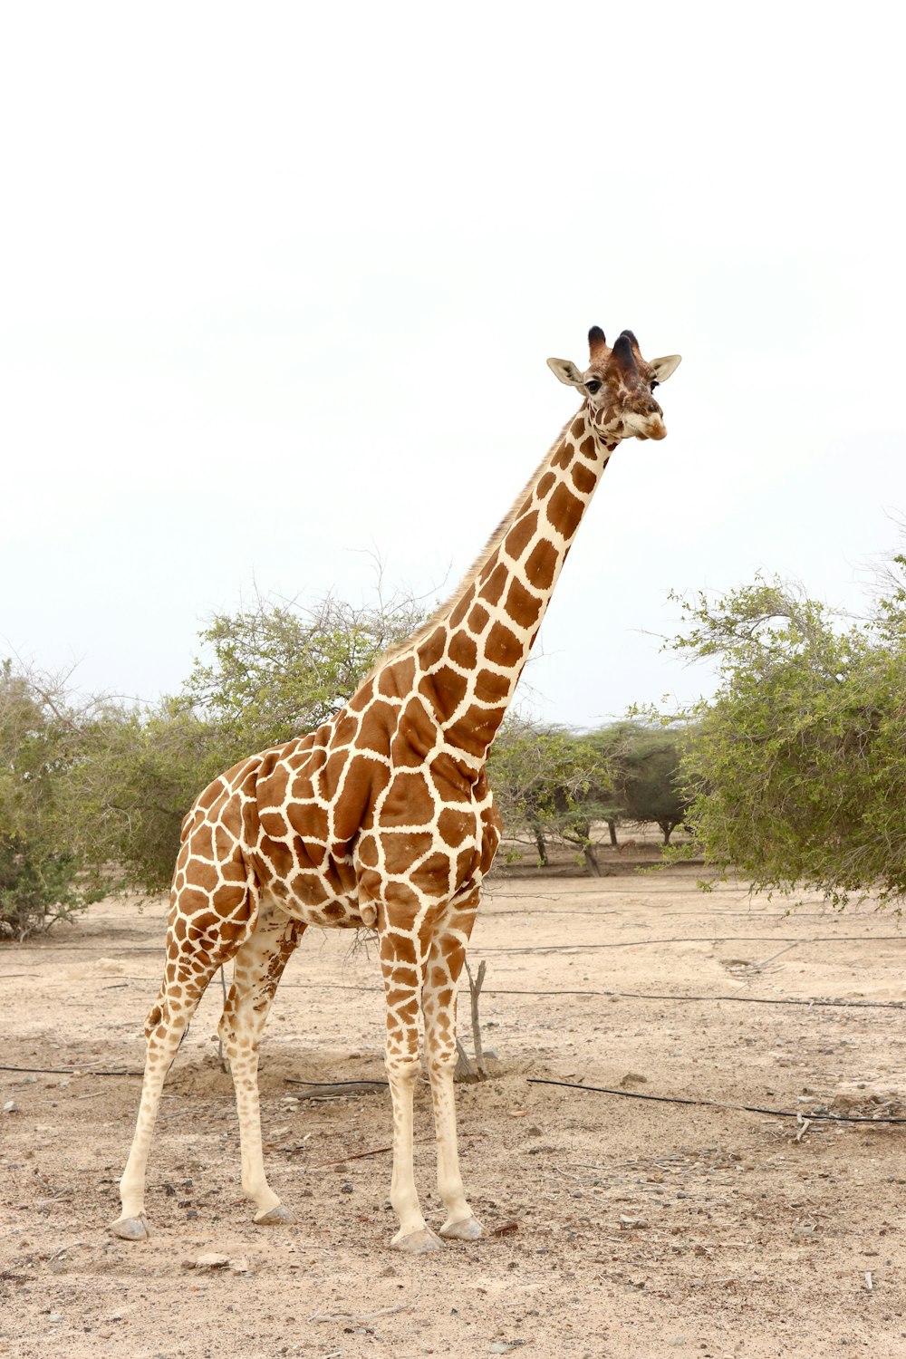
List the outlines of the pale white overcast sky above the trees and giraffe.
<svg viewBox="0 0 906 1359">
<path fill-rule="evenodd" d="M 860 607 L 906 511 L 892 4 L 20 4 L 0 31 L 0 655 L 153 699 L 255 586 L 446 595 L 575 394 L 679 352 L 530 667 L 709 675 L 670 587 Z"/>
</svg>

